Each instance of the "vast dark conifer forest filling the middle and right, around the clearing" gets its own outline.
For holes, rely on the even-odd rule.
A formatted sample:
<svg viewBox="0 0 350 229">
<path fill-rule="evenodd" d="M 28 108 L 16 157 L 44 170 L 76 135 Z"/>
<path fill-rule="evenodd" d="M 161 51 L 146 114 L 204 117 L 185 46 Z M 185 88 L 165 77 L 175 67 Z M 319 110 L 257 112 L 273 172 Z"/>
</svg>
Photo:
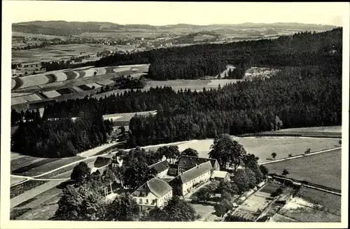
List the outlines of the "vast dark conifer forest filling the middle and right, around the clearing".
<svg viewBox="0 0 350 229">
<path fill-rule="evenodd" d="M 207 74 L 206 71 L 213 71 L 215 75 L 218 73 L 216 70 L 221 71 L 227 63 L 238 63 L 241 69 L 263 64 L 278 67 L 281 71 L 265 80 L 242 81 L 218 90 L 204 88 L 202 92 L 175 92 L 169 87 L 157 87 L 147 92 L 131 90 L 101 99 L 85 97 L 57 102 L 45 107 L 43 119 L 59 118 L 62 114 L 79 116 L 80 112 L 90 110 L 109 114 L 157 109 L 157 116 L 136 116 L 130 120 L 130 138 L 127 141 L 130 147 L 212 138 L 223 133 L 245 134 L 281 127 L 340 125 L 341 50 L 342 29 L 320 34 L 301 33 L 274 41 L 153 50 L 148 52 L 153 60 L 149 74 L 157 79 L 172 78 L 176 74 L 179 78 L 185 75 L 186 78 L 200 77 L 202 73 Z M 123 57 L 125 59 L 118 61 L 136 64 L 147 59 L 143 53 Z M 115 58 L 116 55 L 102 58 L 99 64 L 116 64 Z M 214 62 L 216 67 L 207 65 Z M 36 132 L 35 129 L 33 127 L 31 131 Z"/>
</svg>

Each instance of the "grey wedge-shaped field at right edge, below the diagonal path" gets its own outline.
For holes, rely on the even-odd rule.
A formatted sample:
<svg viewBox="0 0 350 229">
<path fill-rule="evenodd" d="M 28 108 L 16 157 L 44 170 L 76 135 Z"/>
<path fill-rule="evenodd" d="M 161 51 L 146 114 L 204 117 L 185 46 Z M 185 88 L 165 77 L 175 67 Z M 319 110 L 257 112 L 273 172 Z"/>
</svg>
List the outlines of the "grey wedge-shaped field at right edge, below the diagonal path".
<svg viewBox="0 0 350 229">
<path fill-rule="evenodd" d="M 330 188 L 341 189 L 342 151 L 335 150 L 319 153 L 293 160 L 266 164 L 269 173 L 281 175 L 287 169 L 287 177 L 311 183 L 321 184 Z"/>
</svg>

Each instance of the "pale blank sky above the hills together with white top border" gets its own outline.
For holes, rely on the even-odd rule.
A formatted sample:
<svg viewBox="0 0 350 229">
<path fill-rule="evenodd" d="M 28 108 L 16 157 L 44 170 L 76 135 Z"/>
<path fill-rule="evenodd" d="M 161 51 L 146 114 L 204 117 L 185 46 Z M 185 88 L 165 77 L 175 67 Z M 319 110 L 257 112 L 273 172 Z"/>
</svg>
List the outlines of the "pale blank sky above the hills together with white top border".
<svg viewBox="0 0 350 229">
<path fill-rule="evenodd" d="M 118 24 L 193 25 L 299 22 L 342 26 L 349 3 L 156 1 L 3 1 L 11 22 L 65 20 Z M 15 11 L 13 11 L 15 9 Z"/>
</svg>

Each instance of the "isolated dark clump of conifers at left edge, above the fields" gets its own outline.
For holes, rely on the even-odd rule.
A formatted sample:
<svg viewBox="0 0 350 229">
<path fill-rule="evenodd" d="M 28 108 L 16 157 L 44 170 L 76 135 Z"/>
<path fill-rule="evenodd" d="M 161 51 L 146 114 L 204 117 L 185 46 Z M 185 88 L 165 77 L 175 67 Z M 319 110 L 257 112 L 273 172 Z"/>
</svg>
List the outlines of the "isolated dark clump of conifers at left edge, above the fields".
<svg viewBox="0 0 350 229">
<path fill-rule="evenodd" d="M 19 121 L 11 137 L 13 151 L 44 158 L 69 157 L 104 144 L 113 129 L 112 123 L 94 110 L 80 112 L 76 120 L 71 116 L 44 120 L 38 111 L 27 118 Z"/>
</svg>

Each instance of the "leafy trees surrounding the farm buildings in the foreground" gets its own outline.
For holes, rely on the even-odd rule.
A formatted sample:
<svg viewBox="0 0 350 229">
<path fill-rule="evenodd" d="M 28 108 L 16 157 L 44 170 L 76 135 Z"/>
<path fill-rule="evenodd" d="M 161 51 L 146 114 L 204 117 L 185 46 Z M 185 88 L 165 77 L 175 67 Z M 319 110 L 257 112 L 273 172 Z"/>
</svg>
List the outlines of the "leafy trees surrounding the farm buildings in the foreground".
<svg viewBox="0 0 350 229">
<path fill-rule="evenodd" d="M 237 146 L 237 141 L 233 141 L 224 134 L 216 139 L 216 144 L 211 146 L 212 153 L 209 154 L 213 157 L 215 155 L 221 165 L 227 162 L 237 164 L 243 169 L 237 170 L 232 182 L 214 183 L 213 187 L 209 187 L 211 190 L 201 189 L 198 193 L 204 201 L 208 200 L 207 197 L 210 197 L 213 192 L 221 193 L 223 206 L 216 206 L 218 214 L 227 210 L 227 202 L 232 195 L 253 188 L 267 175 L 266 167 L 258 166 L 258 158 L 247 154 L 241 146 L 232 146 Z M 214 151 L 217 153 L 214 154 Z M 148 169 L 147 165 L 162 160 L 163 156 L 177 158 L 181 154 L 196 153 L 191 148 L 180 153 L 177 146 L 160 147 L 157 151 L 145 151 L 141 148 L 130 152 L 120 151 L 116 155 L 123 159 L 123 165 L 109 167 L 104 171 L 103 176 L 90 174 L 90 168 L 86 163 L 80 162 L 73 168 L 72 183 L 64 188 L 54 218 L 71 221 L 195 221 L 198 218 L 195 209 L 179 197 L 169 200 L 163 209 L 155 208 L 149 212 L 140 212 L 137 202 L 130 193 L 155 176 L 155 172 Z M 241 158 L 241 160 L 234 158 Z M 130 189 L 125 190 L 125 194 L 116 197 L 113 201 L 106 200 L 104 188 L 116 180 L 122 181 L 123 185 Z"/>
</svg>

